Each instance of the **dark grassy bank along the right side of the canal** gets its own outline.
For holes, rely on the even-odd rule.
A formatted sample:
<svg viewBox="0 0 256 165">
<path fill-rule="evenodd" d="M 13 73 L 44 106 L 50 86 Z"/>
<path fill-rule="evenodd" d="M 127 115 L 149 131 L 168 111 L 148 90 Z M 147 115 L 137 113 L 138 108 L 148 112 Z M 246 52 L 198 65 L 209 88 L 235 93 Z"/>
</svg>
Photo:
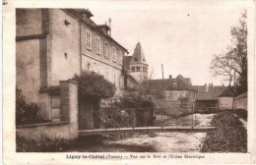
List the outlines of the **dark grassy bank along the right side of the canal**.
<svg viewBox="0 0 256 165">
<path fill-rule="evenodd" d="M 202 152 L 247 151 L 247 131 L 232 112 L 220 112 L 212 120 L 211 126 L 218 129 L 207 133 Z"/>
</svg>

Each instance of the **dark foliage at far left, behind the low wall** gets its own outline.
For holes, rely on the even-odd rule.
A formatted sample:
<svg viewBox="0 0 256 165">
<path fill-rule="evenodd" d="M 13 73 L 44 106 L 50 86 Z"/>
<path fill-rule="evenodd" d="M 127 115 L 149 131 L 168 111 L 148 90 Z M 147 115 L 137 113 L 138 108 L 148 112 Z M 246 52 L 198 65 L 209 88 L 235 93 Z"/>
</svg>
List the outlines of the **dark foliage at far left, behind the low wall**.
<svg viewBox="0 0 256 165">
<path fill-rule="evenodd" d="M 26 103 L 25 96 L 22 94 L 22 91 L 16 89 L 16 125 L 49 122 L 49 120 L 44 120 L 38 117 L 37 112 L 38 106 L 35 103 Z"/>
</svg>

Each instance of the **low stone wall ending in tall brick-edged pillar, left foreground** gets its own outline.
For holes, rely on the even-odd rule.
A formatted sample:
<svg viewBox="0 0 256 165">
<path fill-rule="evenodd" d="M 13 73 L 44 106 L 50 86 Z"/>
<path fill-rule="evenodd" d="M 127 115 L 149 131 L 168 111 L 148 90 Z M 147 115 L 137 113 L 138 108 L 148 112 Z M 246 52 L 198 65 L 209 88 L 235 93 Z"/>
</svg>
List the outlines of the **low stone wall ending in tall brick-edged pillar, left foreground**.
<svg viewBox="0 0 256 165">
<path fill-rule="evenodd" d="M 20 137 L 72 139 L 78 138 L 78 87 L 77 83 L 65 81 L 60 83 L 60 122 L 18 126 L 16 133 Z"/>
</svg>

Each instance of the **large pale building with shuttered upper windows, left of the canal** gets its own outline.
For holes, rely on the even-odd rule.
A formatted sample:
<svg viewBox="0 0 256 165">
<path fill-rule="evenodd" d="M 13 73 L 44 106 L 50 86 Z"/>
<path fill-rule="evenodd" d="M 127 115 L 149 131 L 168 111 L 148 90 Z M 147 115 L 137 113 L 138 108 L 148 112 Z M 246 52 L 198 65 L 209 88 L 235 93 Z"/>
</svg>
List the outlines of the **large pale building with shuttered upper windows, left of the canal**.
<svg viewBox="0 0 256 165">
<path fill-rule="evenodd" d="M 17 87 L 43 118 L 60 118 L 60 81 L 83 71 L 103 75 L 121 93 L 127 50 L 93 16 L 86 9 L 16 10 Z"/>
</svg>

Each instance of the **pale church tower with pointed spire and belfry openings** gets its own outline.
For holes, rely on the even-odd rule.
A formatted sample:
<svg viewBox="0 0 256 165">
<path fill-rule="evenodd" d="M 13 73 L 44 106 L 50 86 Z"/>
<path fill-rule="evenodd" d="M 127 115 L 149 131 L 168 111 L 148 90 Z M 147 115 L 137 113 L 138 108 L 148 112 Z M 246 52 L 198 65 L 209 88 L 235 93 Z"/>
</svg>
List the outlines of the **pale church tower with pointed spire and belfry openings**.
<svg viewBox="0 0 256 165">
<path fill-rule="evenodd" d="M 142 83 L 148 79 L 149 64 L 146 61 L 145 54 L 142 50 L 142 45 L 138 41 L 131 57 L 129 66 L 130 75 L 138 82 Z"/>
</svg>

